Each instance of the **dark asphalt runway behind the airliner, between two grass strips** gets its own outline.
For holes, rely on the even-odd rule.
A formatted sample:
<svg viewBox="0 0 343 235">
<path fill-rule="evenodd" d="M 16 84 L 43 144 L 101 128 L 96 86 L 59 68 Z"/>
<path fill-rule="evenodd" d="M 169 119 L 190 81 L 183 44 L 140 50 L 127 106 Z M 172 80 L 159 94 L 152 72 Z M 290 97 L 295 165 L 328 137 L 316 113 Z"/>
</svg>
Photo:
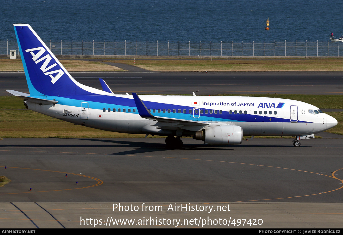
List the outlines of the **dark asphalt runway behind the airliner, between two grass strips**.
<svg viewBox="0 0 343 235">
<path fill-rule="evenodd" d="M 115 94 L 343 94 L 342 72 L 72 72 L 75 80 L 102 89 L 103 78 Z M 28 93 L 25 74 L 0 73 L 5 89 Z"/>
</svg>

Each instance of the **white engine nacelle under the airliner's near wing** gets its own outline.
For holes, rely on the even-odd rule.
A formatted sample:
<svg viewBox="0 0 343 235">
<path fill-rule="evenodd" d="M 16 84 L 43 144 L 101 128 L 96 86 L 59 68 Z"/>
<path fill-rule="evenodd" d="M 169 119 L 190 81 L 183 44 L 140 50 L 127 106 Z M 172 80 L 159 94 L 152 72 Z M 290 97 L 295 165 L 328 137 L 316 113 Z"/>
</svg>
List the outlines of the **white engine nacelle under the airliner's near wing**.
<svg viewBox="0 0 343 235">
<path fill-rule="evenodd" d="M 193 138 L 203 140 L 205 144 L 241 144 L 243 129 L 232 125 L 205 127 L 202 131 L 197 131 Z"/>
</svg>

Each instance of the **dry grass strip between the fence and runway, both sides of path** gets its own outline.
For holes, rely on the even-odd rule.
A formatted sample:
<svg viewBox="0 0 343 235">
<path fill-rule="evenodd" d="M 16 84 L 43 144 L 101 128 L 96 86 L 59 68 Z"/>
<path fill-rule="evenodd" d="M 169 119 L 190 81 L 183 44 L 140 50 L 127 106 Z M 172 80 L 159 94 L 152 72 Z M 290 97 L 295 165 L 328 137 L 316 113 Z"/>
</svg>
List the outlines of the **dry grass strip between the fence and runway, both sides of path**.
<svg viewBox="0 0 343 235">
<path fill-rule="evenodd" d="M 87 60 L 60 60 L 69 71 L 115 71 L 118 68 Z M 211 59 L 106 59 L 152 71 L 343 71 L 341 58 L 212 58 Z M 23 71 L 21 59 L 0 59 L 0 71 Z M 121 69 L 119 69 L 121 70 Z"/>
</svg>

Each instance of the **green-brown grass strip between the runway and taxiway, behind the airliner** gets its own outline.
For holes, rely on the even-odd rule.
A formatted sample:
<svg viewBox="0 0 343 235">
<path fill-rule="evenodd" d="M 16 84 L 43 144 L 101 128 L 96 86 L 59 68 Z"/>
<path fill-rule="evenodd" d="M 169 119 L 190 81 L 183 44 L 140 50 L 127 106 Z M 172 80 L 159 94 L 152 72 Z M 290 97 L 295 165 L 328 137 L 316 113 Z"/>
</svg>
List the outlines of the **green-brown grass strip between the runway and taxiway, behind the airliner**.
<svg viewBox="0 0 343 235">
<path fill-rule="evenodd" d="M 230 95 L 236 96 L 236 95 Z M 343 95 L 241 95 L 299 100 L 319 108 L 343 108 Z M 327 113 L 338 125 L 327 132 L 343 134 L 343 112 Z M 143 138 L 145 135 L 116 133 L 74 125 L 28 110 L 15 96 L 0 96 L 0 138 Z M 149 138 L 161 138 L 151 136 Z"/>
</svg>

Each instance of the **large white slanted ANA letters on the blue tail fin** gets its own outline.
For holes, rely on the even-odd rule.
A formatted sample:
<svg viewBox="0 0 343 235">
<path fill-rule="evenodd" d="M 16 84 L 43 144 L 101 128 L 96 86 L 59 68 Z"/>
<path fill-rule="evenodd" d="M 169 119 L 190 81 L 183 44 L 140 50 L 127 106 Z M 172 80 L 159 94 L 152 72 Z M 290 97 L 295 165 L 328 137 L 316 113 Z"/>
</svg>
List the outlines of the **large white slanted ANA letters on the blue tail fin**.
<svg viewBox="0 0 343 235">
<path fill-rule="evenodd" d="M 37 64 L 39 62 L 42 62 L 43 60 L 44 63 L 42 66 L 40 66 L 40 70 L 42 70 L 42 72 L 45 74 L 45 75 L 49 75 L 49 77 L 51 78 L 51 83 L 54 84 L 63 74 L 64 72 L 62 71 L 62 69 L 57 69 L 57 70 L 54 70 L 54 71 L 48 71 L 50 69 L 52 69 L 53 67 L 55 67 L 57 64 L 54 63 L 53 65 L 50 65 L 49 67 L 48 64 L 50 63 L 51 61 L 51 56 L 49 54 L 43 56 L 42 58 L 39 58 L 43 55 L 43 53 L 46 51 L 43 47 L 37 47 L 37 48 L 32 48 L 32 49 L 27 49 L 25 50 L 26 52 L 30 52 L 31 55 L 33 56 L 32 57 L 32 60 Z M 37 54 L 34 54 L 33 51 L 38 51 Z M 47 72 L 48 71 L 48 72 Z M 56 74 L 57 75 L 54 77 L 52 76 L 52 74 Z"/>
</svg>

